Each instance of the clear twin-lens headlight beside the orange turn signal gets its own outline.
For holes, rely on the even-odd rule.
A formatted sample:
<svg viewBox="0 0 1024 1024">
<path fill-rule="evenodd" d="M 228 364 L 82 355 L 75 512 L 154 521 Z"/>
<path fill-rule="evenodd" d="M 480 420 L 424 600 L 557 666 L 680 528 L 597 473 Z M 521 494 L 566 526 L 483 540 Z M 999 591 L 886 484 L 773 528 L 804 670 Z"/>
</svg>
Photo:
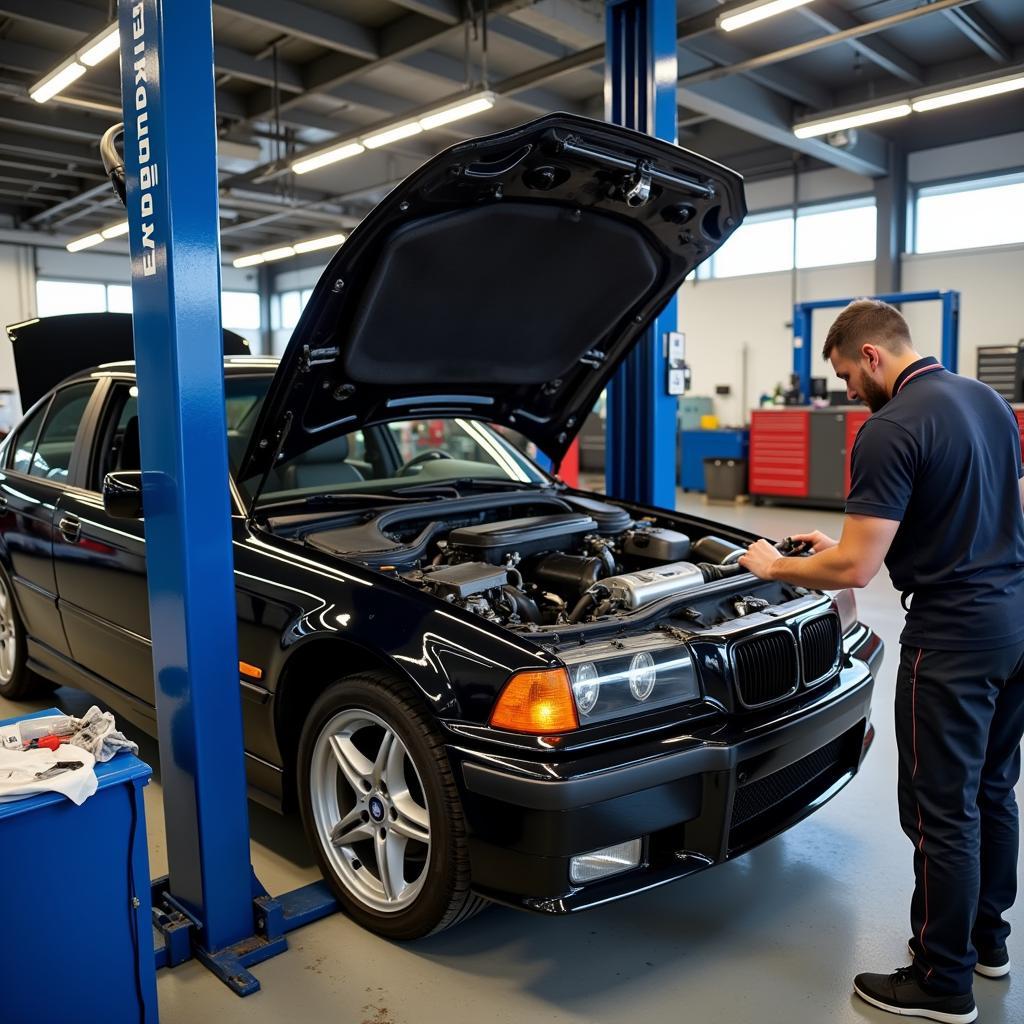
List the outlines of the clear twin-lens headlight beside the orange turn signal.
<svg viewBox="0 0 1024 1024">
<path fill-rule="evenodd" d="M 581 725 L 700 699 L 689 649 L 666 646 L 664 636 L 586 644 L 559 656 Z"/>
</svg>

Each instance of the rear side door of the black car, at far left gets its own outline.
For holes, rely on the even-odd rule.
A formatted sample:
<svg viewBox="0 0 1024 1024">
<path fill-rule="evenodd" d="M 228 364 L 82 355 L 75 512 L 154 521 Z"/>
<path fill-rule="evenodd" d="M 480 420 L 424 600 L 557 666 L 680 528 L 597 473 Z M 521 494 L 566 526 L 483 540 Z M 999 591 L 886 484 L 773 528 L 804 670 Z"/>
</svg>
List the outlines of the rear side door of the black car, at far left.
<svg viewBox="0 0 1024 1024">
<path fill-rule="evenodd" d="M 0 534 L 15 600 L 32 643 L 70 652 L 57 609 L 53 545 L 56 510 L 72 485 L 96 382 L 58 388 L 22 423 L 0 472 Z"/>
</svg>

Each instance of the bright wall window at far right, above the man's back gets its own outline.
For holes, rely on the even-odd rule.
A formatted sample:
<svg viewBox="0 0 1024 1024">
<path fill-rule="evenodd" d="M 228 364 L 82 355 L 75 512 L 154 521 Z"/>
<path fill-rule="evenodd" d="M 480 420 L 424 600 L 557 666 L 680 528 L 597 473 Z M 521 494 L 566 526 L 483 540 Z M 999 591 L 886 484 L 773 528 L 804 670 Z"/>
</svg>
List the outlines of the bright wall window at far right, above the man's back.
<svg viewBox="0 0 1024 1024">
<path fill-rule="evenodd" d="M 1024 242 L 1024 174 L 919 188 L 913 213 L 918 253 Z"/>
</svg>

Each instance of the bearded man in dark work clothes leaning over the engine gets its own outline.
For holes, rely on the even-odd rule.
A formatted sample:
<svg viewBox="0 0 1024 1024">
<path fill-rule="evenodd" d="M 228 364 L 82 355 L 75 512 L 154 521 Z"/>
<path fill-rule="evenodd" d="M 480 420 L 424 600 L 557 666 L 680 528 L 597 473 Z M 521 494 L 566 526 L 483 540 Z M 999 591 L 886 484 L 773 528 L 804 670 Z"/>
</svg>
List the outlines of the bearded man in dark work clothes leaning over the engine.
<svg viewBox="0 0 1024 1024">
<path fill-rule="evenodd" d="M 758 541 L 764 580 L 865 587 L 882 567 L 908 610 L 896 678 L 899 812 L 913 843 L 910 967 L 854 990 L 904 1016 L 977 1019 L 973 973 L 1010 971 L 1024 734 L 1024 481 L 1014 414 L 987 385 L 914 351 L 899 311 L 851 302 L 824 356 L 872 415 L 853 447 L 839 541 Z M 908 600 L 912 595 L 912 601 Z"/>
</svg>

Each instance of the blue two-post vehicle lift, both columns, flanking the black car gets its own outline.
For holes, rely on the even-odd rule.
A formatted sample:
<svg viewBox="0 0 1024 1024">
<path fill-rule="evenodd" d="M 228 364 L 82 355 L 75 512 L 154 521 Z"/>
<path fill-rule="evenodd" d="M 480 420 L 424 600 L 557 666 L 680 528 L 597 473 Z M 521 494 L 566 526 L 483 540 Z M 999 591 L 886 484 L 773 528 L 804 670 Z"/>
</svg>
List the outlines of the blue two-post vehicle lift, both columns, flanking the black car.
<svg viewBox="0 0 1024 1024">
<path fill-rule="evenodd" d="M 228 488 L 211 0 L 119 0 L 124 174 L 168 877 L 157 966 L 196 956 L 240 995 L 326 883 L 271 897 L 249 850 Z M 674 0 L 608 4 L 611 120 L 676 138 Z M 656 78 L 655 78 L 656 75 Z M 675 504 L 670 303 L 611 389 L 609 490 Z M 635 467 L 635 471 L 634 470 Z"/>
</svg>

